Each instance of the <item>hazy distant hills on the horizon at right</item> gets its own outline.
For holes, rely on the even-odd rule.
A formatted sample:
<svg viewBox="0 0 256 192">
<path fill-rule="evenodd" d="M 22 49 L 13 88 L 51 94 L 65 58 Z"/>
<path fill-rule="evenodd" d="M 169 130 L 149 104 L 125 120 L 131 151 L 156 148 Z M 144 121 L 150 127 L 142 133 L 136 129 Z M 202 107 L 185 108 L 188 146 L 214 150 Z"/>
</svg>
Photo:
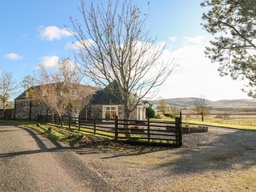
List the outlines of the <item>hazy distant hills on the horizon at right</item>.
<svg viewBox="0 0 256 192">
<path fill-rule="evenodd" d="M 197 97 L 184 97 L 184 98 L 170 98 L 164 99 L 167 103 L 174 103 L 180 107 L 187 107 L 194 104 L 194 101 L 199 99 Z M 256 106 L 255 99 L 225 99 L 219 101 L 211 101 L 206 99 L 210 106 Z M 152 104 L 159 104 L 159 100 L 151 101 Z"/>
</svg>

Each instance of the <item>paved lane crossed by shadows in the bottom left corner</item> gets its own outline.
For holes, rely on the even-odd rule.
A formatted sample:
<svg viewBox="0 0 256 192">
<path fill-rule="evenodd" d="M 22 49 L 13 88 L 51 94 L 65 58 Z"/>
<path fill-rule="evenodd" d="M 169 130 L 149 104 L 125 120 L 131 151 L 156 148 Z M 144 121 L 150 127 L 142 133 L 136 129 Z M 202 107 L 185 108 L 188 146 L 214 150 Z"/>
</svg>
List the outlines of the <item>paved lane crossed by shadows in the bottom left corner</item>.
<svg viewBox="0 0 256 192">
<path fill-rule="evenodd" d="M 0 123 L 0 191 L 115 191 L 68 146 Z"/>
</svg>

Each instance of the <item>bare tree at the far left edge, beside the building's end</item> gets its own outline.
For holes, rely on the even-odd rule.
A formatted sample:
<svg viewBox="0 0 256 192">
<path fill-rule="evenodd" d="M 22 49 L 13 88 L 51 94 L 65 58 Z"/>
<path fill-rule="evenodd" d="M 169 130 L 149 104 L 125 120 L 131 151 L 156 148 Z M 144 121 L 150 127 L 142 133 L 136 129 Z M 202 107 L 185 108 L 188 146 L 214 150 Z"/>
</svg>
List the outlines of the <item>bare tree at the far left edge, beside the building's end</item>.
<svg viewBox="0 0 256 192">
<path fill-rule="evenodd" d="M 11 72 L 0 72 L 0 99 L 3 102 L 3 118 L 5 118 L 5 110 L 7 101 L 16 94 L 17 86 Z"/>
</svg>

